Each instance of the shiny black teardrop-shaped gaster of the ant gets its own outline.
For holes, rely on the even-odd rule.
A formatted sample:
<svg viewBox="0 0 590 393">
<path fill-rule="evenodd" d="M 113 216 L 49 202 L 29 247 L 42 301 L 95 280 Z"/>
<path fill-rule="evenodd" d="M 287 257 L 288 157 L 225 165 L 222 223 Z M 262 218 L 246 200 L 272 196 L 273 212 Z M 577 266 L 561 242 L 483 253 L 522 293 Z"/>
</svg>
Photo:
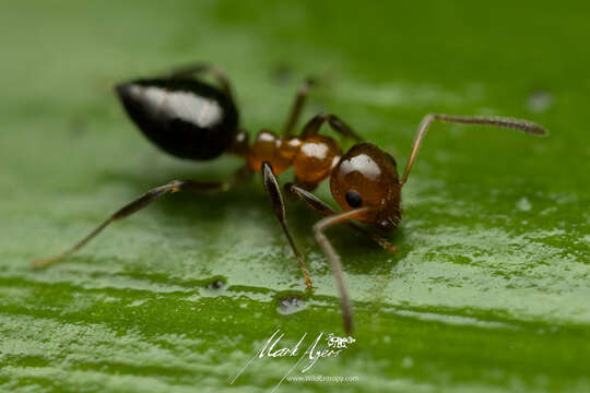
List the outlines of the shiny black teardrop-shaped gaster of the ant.
<svg viewBox="0 0 590 393">
<path fill-rule="evenodd" d="M 228 150 L 237 133 L 234 102 L 203 82 L 137 80 L 117 85 L 116 91 L 145 136 L 177 157 L 213 159 Z"/>
</svg>

